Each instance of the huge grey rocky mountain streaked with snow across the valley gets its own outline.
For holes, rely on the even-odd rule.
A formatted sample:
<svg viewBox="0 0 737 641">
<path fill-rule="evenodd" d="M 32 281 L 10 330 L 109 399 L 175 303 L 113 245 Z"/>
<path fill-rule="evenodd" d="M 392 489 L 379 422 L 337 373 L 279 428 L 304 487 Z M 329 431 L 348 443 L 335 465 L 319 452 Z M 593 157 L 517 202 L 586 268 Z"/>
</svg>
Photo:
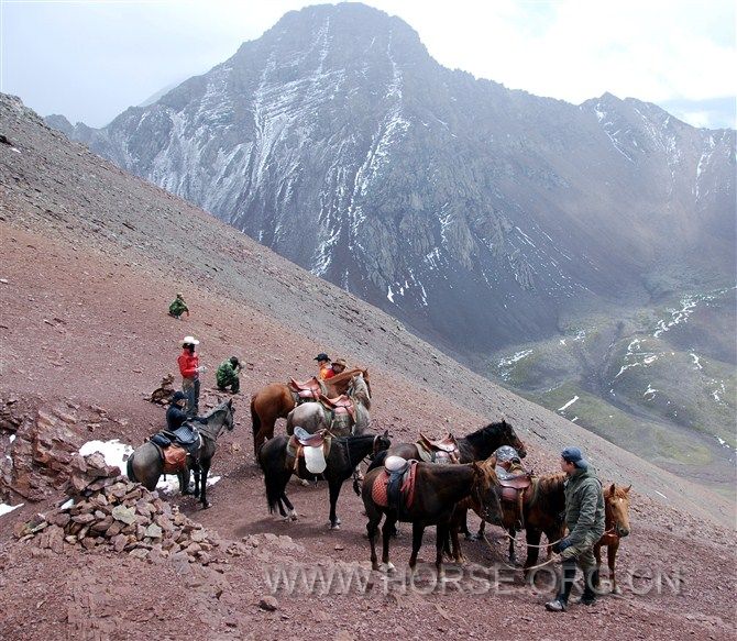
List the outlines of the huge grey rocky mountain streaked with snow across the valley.
<svg viewBox="0 0 737 641">
<path fill-rule="evenodd" d="M 289 12 L 75 135 L 468 357 L 550 336 L 571 299 L 669 262 L 734 263 L 734 132 L 476 80 L 358 3 Z"/>
</svg>

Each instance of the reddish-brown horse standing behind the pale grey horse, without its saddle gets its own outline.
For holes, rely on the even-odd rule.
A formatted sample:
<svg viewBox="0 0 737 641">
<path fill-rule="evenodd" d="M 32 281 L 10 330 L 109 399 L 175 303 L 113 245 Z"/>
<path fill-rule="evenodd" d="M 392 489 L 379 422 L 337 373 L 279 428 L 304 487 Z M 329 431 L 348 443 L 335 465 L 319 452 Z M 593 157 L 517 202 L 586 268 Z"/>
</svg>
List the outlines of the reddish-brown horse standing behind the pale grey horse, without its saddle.
<svg viewBox="0 0 737 641">
<path fill-rule="evenodd" d="M 363 374 L 363 379 L 371 393 L 369 382 L 369 369 L 355 367 L 336 374 L 332 378 L 324 380 L 326 396 L 334 398 L 345 394 L 351 379 L 356 374 Z M 258 449 L 266 439 L 274 436 L 274 426 L 277 419 L 286 419 L 287 415 L 297 405 L 295 395 L 285 383 L 272 383 L 256 391 L 251 398 L 251 421 L 253 428 L 253 451 L 258 458 Z"/>
</svg>

